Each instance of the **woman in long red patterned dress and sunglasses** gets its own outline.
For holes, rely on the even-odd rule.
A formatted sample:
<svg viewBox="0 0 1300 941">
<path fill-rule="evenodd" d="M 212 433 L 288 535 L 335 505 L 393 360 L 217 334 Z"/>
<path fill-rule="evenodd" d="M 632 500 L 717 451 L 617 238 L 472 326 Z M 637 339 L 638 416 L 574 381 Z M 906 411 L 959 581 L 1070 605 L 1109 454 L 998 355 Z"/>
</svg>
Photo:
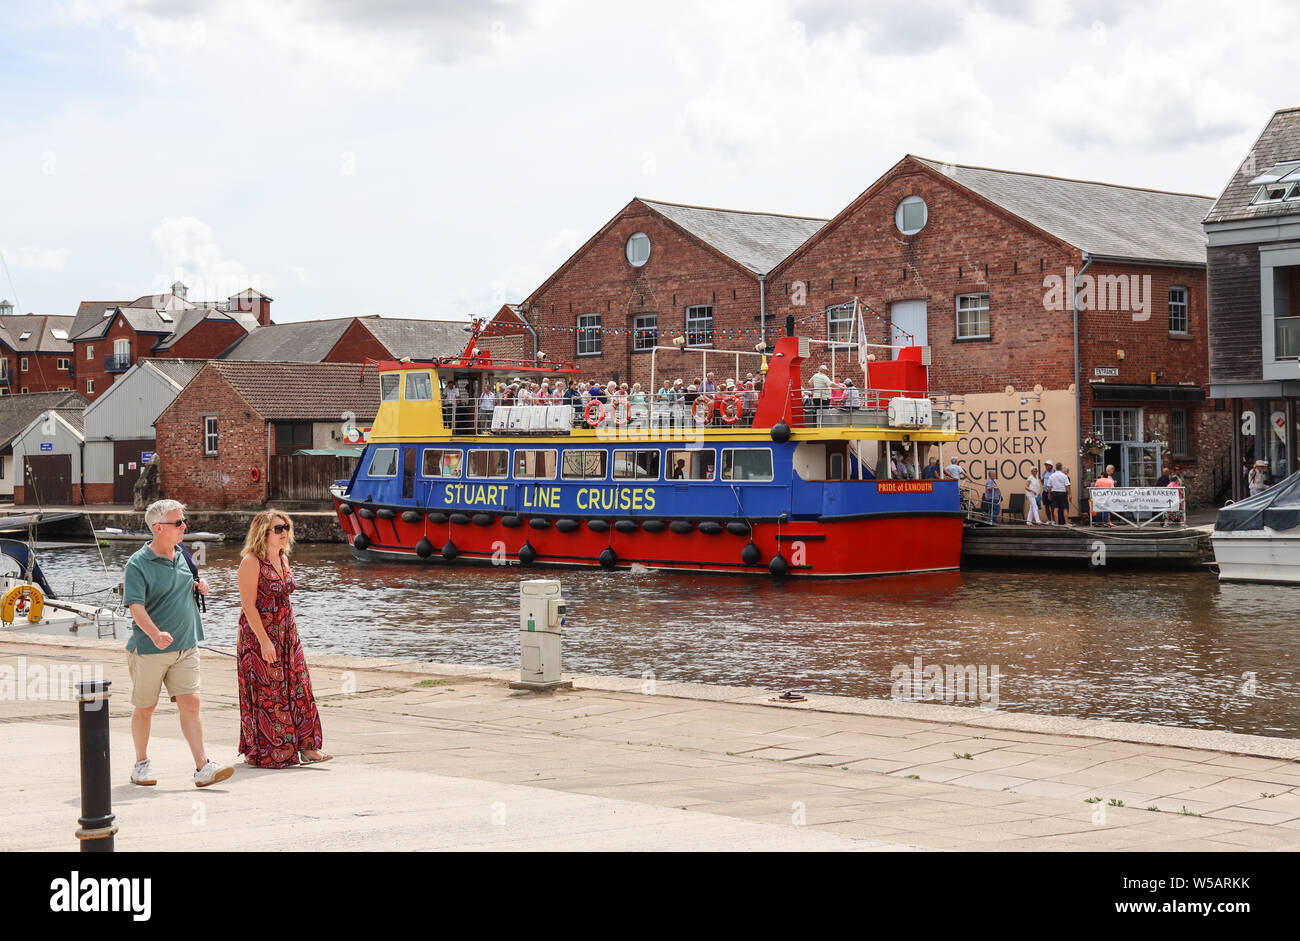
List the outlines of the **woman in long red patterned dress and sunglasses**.
<svg viewBox="0 0 1300 941">
<path fill-rule="evenodd" d="M 294 524 L 277 509 L 252 517 L 239 561 L 239 754 L 256 768 L 328 762 L 312 678 L 294 623 L 289 568 Z"/>
</svg>

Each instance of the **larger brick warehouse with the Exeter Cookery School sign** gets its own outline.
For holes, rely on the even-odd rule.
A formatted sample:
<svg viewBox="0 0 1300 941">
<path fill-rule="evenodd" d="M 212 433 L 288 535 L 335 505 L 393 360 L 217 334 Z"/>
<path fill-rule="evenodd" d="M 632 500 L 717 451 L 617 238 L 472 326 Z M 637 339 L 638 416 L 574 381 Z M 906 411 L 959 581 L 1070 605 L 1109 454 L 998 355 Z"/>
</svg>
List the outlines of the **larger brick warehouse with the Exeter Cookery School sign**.
<svg viewBox="0 0 1300 941">
<path fill-rule="evenodd" d="M 967 469 L 996 467 L 1010 493 L 1050 459 L 1076 483 L 1113 464 L 1121 486 L 1169 465 L 1205 503 L 1231 434 L 1206 395 L 1212 201 L 909 155 L 771 272 L 768 316 L 852 341 L 827 308 L 858 296 L 868 342 L 928 344 L 931 389 L 965 398 Z M 1092 434 L 1105 451 L 1083 459 Z"/>
</svg>

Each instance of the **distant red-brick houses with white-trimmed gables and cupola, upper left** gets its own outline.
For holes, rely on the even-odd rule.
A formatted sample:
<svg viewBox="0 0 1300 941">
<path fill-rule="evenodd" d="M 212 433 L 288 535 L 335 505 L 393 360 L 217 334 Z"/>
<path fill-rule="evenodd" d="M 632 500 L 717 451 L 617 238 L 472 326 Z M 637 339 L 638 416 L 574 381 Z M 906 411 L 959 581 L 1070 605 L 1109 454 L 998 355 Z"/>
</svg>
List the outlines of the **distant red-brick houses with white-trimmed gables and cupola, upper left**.
<svg viewBox="0 0 1300 941">
<path fill-rule="evenodd" d="M 142 357 L 211 359 L 257 325 L 272 299 L 251 287 L 225 302 L 191 302 L 185 285 L 135 300 L 84 300 L 70 329 L 77 391 L 95 400 Z"/>
</svg>

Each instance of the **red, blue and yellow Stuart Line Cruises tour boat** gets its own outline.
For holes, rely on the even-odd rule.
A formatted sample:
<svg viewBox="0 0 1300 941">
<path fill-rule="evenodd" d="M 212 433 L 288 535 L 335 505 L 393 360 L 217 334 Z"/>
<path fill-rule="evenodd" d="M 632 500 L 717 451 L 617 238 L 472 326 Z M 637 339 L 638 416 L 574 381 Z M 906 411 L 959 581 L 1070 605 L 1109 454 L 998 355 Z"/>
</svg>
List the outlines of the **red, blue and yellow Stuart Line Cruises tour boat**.
<svg viewBox="0 0 1300 941">
<path fill-rule="evenodd" d="M 377 363 L 381 402 L 365 451 L 332 489 L 338 520 L 365 561 L 774 576 L 957 569 L 959 482 L 919 468 L 931 458 L 945 467 L 944 445 L 959 433 L 930 396 L 930 350 L 892 352 L 866 364 L 853 407 L 801 387 L 802 337 L 767 352 L 757 395 L 701 393 L 689 407 L 654 394 L 645 404 L 491 406 L 480 396 L 498 382 L 578 370 L 495 361 L 473 338 L 458 356 Z M 458 395 L 445 395 L 452 386 Z M 907 473 L 896 473 L 894 452 Z"/>
</svg>

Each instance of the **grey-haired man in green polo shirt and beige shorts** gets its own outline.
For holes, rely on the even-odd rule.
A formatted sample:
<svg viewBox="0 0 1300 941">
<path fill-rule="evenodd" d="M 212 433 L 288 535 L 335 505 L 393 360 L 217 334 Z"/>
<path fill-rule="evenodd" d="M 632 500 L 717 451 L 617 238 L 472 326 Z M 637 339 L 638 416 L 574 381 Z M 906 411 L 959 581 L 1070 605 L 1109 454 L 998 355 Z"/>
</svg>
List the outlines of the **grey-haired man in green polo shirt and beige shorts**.
<svg viewBox="0 0 1300 941">
<path fill-rule="evenodd" d="M 194 754 L 194 782 L 199 788 L 225 781 L 235 769 L 217 764 L 203 749 L 199 721 L 199 641 L 203 619 L 195 590 L 208 594 L 208 582 L 195 581 L 185 552 L 185 504 L 159 500 L 144 511 L 153 539 L 126 563 L 122 600 L 135 626 L 126 641 L 131 673 L 131 738 L 135 741 L 133 784 L 157 784 L 150 764 L 150 727 L 162 684 L 181 711 L 181 733 Z"/>
</svg>

